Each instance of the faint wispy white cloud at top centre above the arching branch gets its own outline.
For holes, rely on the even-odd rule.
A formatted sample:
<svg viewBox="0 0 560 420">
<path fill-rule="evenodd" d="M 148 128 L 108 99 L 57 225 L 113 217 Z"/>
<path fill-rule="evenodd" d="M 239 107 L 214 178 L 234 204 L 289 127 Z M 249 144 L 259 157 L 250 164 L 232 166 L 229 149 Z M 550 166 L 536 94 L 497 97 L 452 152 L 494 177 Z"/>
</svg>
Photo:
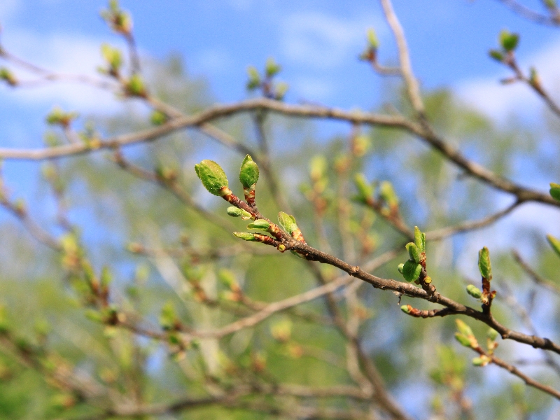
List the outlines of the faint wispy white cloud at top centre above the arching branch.
<svg viewBox="0 0 560 420">
<path fill-rule="evenodd" d="M 356 60 L 365 46 L 367 27 L 384 26 L 367 15 L 345 20 L 318 12 L 296 13 L 282 25 L 283 54 L 297 64 L 332 69 Z"/>
</svg>

